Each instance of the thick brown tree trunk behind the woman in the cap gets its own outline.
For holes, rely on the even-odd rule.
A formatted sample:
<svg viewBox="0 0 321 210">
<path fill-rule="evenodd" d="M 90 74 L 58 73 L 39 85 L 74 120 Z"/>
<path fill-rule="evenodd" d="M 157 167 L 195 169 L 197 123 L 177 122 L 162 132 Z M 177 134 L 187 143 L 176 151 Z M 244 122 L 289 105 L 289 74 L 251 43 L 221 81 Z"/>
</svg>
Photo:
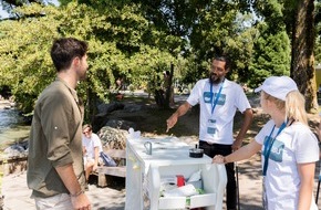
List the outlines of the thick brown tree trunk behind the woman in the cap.
<svg viewBox="0 0 321 210">
<path fill-rule="evenodd" d="M 306 97 L 309 113 L 318 112 L 314 70 L 314 4 L 312 0 L 298 0 L 292 30 L 291 77 Z"/>
</svg>

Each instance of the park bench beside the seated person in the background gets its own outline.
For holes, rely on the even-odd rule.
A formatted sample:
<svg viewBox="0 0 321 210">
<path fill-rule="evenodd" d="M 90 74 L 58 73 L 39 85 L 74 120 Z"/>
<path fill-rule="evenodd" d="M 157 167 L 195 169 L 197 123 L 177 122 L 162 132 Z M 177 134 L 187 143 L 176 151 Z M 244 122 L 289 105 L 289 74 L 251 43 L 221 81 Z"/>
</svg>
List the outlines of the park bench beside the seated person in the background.
<svg viewBox="0 0 321 210">
<path fill-rule="evenodd" d="M 126 150 L 124 149 L 104 149 L 110 157 L 112 157 L 117 166 L 100 166 L 94 175 L 99 178 L 99 187 L 106 187 L 107 179 L 106 175 L 114 177 L 126 177 Z"/>
</svg>

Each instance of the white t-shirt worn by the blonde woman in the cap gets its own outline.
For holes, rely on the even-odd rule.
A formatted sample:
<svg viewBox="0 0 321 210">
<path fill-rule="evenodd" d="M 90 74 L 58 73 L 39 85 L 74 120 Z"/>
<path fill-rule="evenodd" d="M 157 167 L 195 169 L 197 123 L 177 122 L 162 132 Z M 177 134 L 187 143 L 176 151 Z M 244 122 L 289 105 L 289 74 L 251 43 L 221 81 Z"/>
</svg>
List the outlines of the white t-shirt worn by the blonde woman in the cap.
<svg viewBox="0 0 321 210">
<path fill-rule="evenodd" d="M 262 166 L 265 162 L 265 140 L 268 139 L 275 123 L 269 120 L 259 134 L 256 141 L 262 145 Z M 275 138 L 279 128 L 275 128 L 271 138 Z M 319 160 L 318 139 L 310 128 L 301 123 L 293 123 L 286 127 L 276 138 L 268 161 L 265 187 L 269 210 L 296 210 L 299 202 L 300 176 L 298 164 Z M 318 207 L 312 196 L 310 210 Z"/>
</svg>

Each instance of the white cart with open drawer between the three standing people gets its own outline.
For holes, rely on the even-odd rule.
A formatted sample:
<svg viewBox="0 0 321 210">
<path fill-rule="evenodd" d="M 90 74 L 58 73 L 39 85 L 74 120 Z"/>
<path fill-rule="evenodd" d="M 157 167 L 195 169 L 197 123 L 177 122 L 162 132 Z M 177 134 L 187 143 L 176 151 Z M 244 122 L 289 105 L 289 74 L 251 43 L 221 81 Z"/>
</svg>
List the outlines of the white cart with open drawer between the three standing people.
<svg viewBox="0 0 321 210">
<path fill-rule="evenodd" d="M 152 155 L 144 143 L 152 141 Z M 190 147 L 177 138 L 127 139 L 125 210 L 193 209 L 205 207 L 221 210 L 227 183 L 224 165 L 211 164 L 211 158 L 190 158 Z M 201 171 L 204 193 L 190 197 L 161 197 L 162 177 L 190 177 Z M 188 200 L 188 202 L 187 202 Z"/>
</svg>

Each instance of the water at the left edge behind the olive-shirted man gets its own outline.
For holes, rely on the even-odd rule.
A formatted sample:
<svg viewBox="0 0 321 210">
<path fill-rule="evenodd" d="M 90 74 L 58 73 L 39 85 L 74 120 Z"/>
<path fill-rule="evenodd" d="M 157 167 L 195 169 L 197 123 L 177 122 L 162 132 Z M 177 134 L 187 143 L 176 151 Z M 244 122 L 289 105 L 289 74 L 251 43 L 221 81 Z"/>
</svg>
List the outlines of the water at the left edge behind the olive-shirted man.
<svg viewBox="0 0 321 210">
<path fill-rule="evenodd" d="M 29 136 L 30 126 L 17 109 L 0 109 L 0 148 Z"/>
</svg>

